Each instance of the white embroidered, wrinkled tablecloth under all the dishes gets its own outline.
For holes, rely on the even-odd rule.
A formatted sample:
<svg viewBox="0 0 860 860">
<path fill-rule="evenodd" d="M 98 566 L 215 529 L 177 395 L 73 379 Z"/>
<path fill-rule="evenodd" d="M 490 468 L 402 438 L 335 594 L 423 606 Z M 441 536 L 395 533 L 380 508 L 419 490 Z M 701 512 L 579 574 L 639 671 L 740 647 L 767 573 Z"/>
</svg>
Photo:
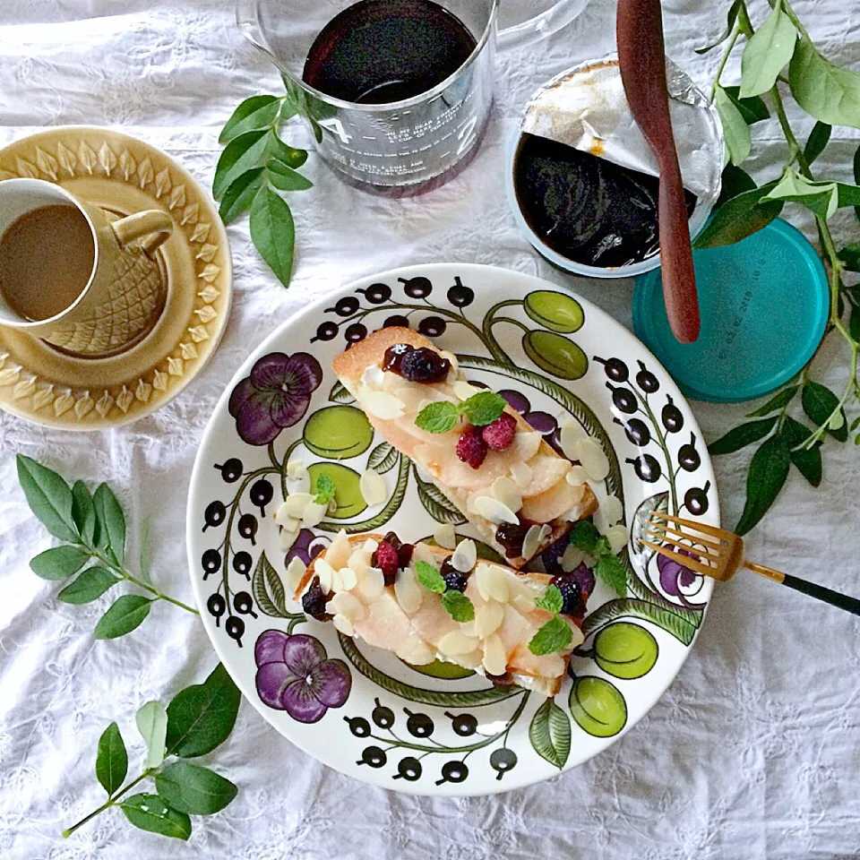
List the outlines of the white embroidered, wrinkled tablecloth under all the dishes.
<svg viewBox="0 0 860 860">
<path fill-rule="evenodd" d="M 699 57 L 693 48 L 718 35 L 727 5 L 664 4 L 667 50 L 701 83 L 710 82 L 718 52 Z M 764 8 L 753 4 L 758 20 Z M 825 53 L 860 64 L 855 3 L 797 0 L 796 8 Z M 632 284 L 575 279 L 540 260 L 514 226 L 502 182 L 504 136 L 525 99 L 566 66 L 610 52 L 614 14 L 612 0 L 592 0 L 546 45 L 500 56 L 483 149 L 436 193 L 403 202 L 366 196 L 312 155 L 314 190 L 290 198 L 298 250 L 288 291 L 254 253 L 246 220 L 230 227 L 236 293 L 227 335 L 165 409 L 97 434 L 43 430 L 0 413 L 3 860 L 860 857 L 860 624 L 753 574 L 716 589 L 690 659 L 648 717 L 606 753 L 542 785 L 463 800 L 386 792 L 324 768 L 244 707 L 228 743 L 207 757 L 239 796 L 223 813 L 195 819 L 187 844 L 133 830 L 118 811 L 60 837 L 103 800 L 93 764 L 107 724 L 119 722 L 139 761 L 134 711 L 202 680 L 216 658 L 202 625 L 164 604 L 133 635 L 93 641 L 108 598 L 65 606 L 28 569 L 49 539 L 24 503 L 14 454 L 110 482 L 134 528 L 150 521 L 156 580 L 190 599 L 185 494 L 203 427 L 249 350 L 308 301 L 392 266 L 485 262 L 576 289 L 629 325 Z M 0 143 L 47 125 L 122 125 L 209 185 L 219 127 L 233 107 L 279 87 L 237 33 L 231 0 L 0 0 Z M 300 127 L 290 136 L 308 142 Z M 782 158 L 778 127 L 759 125 L 754 137 L 753 166 L 766 172 Z M 849 179 L 855 147 L 850 131 L 837 130 L 821 170 L 841 165 Z M 850 212 L 840 217 L 839 239 L 860 238 Z M 835 380 L 844 360 L 835 345 L 825 348 L 818 373 Z M 695 410 L 709 440 L 744 414 L 743 406 Z M 749 551 L 860 594 L 860 454 L 853 445 L 827 447 L 821 488 L 793 473 Z M 743 506 L 748 456 L 716 462 L 728 523 Z"/>
</svg>

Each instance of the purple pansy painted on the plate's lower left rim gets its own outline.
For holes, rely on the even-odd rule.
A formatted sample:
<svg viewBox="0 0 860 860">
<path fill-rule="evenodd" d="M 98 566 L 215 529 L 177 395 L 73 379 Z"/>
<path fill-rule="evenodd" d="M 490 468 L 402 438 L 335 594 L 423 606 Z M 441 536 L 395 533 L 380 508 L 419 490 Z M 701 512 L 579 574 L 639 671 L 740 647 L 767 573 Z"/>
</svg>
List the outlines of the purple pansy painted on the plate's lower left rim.
<svg viewBox="0 0 860 860">
<path fill-rule="evenodd" d="M 257 639 L 254 660 L 261 700 L 300 723 L 315 723 L 348 699 L 352 676 L 347 664 L 328 659 L 313 636 L 267 630 Z"/>
</svg>

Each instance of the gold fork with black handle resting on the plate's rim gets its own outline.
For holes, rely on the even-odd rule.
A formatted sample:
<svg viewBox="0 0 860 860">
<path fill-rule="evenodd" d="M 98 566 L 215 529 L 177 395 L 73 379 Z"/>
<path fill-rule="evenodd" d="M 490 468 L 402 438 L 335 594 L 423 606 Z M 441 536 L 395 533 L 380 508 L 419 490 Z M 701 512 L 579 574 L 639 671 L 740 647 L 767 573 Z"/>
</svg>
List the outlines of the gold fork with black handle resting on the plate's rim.
<svg viewBox="0 0 860 860">
<path fill-rule="evenodd" d="M 643 546 L 649 546 L 656 553 L 683 564 L 691 571 L 726 582 L 735 575 L 739 568 L 745 567 L 749 571 L 761 573 L 761 576 L 766 576 L 769 580 L 778 582 L 780 585 L 787 585 L 789 589 L 803 591 L 804 594 L 808 594 L 812 598 L 818 598 L 831 606 L 839 606 L 846 612 L 860 615 L 860 600 L 857 598 L 850 598 L 847 594 L 826 589 L 823 585 L 802 580 L 790 573 L 775 571 L 763 564 L 748 562 L 744 558 L 743 538 L 739 538 L 726 529 L 718 529 L 716 526 L 709 526 L 704 522 L 682 520 L 679 517 L 658 511 L 650 511 L 649 514 L 651 519 L 648 522 L 648 527 L 642 529 L 642 532 L 649 538 L 655 538 L 656 542 L 644 538 L 639 538 L 639 542 Z M 673 528 L 673 524 L 678 528 Z M 682 529 L 687 529 L 687 531 L 684 532 Z M 689 532 L 694 532 L 694 534 Z M 679 540 L 684 541 L 684 543 L 678 543 Z M 698 555 L 698 559 L 676 552 L 679 547 L 684 549 L 684 553 Z"/>
</svg>

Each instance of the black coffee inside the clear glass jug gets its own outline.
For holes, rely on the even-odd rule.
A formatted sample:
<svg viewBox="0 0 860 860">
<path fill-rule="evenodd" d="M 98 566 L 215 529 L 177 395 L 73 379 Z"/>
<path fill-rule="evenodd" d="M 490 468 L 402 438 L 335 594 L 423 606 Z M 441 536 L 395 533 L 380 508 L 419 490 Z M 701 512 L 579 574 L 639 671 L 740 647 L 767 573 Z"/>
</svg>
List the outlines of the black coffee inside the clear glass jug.
<svg viewBox="0 0 860 860">
<path fill-rule="evenodd" d="M 361 0 L 323 28 L 302 76 L 335 99 L 390 104 L 432 90 L 475 47 L 466 25 L 431 0 Z"/>
</svg>

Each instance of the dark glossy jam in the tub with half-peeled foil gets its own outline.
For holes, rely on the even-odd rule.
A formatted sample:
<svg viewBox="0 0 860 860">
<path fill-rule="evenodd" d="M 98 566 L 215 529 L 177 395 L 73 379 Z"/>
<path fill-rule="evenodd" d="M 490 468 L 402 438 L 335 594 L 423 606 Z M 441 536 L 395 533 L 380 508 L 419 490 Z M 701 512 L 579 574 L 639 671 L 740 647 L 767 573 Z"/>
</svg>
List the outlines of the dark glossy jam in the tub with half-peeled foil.
<svg viewBox="0 0 860 860">
<path fill-rule="evenodd" d="M 610 269 L 659 251 L 659 180 L 590 152 L 523 134 L 514 189 L 529 228 L 572 262 Z M 684 189 L 688 217 L 696 206 Z"/>
</svg>

